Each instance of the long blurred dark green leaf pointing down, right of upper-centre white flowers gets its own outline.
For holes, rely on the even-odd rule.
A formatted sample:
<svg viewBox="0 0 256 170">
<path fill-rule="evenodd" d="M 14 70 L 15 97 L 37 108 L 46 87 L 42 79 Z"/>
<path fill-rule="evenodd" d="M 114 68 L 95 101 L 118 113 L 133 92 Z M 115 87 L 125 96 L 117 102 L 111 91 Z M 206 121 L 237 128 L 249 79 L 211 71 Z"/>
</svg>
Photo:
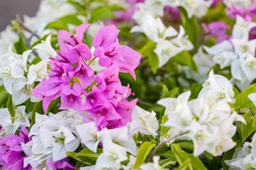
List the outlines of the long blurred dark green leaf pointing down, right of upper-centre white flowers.
<svg viewBox="0 0 256 170">
<path fill-rule="evenodd" d="M 192 16 L 191 18 L 188 18 L 188 14 L 184 8 L 179 7 L 178 9 L 181 12 L 181 21 L 184 29 L 186 30 L 186 35 L 188 35 L 188 40 L 196 46 L 196 40 L 200 31 L 199 25 L 196 22 L 196 17 Z"/>
</svg>

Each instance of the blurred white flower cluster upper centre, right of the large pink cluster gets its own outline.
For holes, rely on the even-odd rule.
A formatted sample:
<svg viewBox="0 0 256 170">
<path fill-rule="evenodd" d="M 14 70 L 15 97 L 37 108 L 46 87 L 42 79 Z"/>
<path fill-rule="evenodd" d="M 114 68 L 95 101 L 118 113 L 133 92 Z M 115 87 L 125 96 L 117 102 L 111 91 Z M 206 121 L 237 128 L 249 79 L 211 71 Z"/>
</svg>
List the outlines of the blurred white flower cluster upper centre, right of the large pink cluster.
<svg viewBox="0 0 256 170">
<path fill-rule="evenodd" d="M 154 18 L 149 13 L 140 17 L 137 23 L 139 23 L 139 26 L 134 26 L 131 33 L 145 33 L 149 40 L 156 42 L 154 52 L 159 57 L 159 67 L 164 66 L 171 57 L 174 57 L 179 52 L 193 49 L 193 44 L 188 40 L 188 35 L 186 35 L 183 26 L 180 26 L 178 33 L 171 26 L 166 28 L 161 18 Z M 167 40 L 166 38 L 172 39 Z"/>
</svg>

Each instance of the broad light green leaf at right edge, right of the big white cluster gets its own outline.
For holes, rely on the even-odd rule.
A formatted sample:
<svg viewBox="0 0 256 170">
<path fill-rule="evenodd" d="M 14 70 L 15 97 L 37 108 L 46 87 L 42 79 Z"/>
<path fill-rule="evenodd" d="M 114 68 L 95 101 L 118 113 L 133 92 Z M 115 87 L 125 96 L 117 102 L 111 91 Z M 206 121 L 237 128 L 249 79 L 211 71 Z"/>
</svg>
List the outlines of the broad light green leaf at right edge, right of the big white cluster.
<svg viewBox="0 0 256 170">
<path fill-rule="evenodd" d="M 256 93 L 256 84 L 250 85 L 247 89 L 238 94 L 235 100 L 235 106 L 240 106 L 241 108 L 250 108 L 253 106 L 252 101 L 248 98 L 248 95 L 252 93 Z"/>
</svg>

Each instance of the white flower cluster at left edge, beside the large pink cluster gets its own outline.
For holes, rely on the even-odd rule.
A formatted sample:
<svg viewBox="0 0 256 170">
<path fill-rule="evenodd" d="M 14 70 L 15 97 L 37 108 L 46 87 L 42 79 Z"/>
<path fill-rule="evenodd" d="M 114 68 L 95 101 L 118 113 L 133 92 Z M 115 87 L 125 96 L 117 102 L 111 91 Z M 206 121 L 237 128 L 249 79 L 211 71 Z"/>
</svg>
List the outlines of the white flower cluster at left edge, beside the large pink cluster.
<svg viewBox="0 0 256 170">
<path fill-rule="evenodd" d="M 0 84 L 4 84 L 6 91 L 12 95 L 15 106 L 31 98 L 32 102 L 38 101 L 31 96 L 35 81 L 41 81 L 47 75 L 47 61 L 55 57 L 56 52 L 50 45 L 50 37 L 45 42 L 39 43 L 33 50 L 40 53 L 41 62 L 30 64 L 36 57 L 33 50 L 26 50 L 18 55 L 9 48 L 9 52 L 0 55 Z M 28 67 L 29 65 L 29 67 Z"/>
</svg>

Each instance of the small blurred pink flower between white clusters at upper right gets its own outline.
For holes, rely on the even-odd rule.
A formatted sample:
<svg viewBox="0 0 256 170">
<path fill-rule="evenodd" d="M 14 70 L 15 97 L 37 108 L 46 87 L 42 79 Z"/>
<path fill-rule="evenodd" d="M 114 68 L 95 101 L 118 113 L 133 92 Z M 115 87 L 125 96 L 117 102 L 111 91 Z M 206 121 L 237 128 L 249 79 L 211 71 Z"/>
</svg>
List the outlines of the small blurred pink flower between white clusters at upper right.
<svg viewBox="0 0 256 170">
<path fill-rule="evenodd" d="M 228 40 L 230 35 L 227 35 L 226 30 L 231 29 L 226 23 L 221 21 L 215 21 L 210 24 L 202 23 L 203 29 L 206 30 L 205 41 L 210 37 L 217 37 L 215 44 L 223 42 L 223 40 Z"/>
</svg>

